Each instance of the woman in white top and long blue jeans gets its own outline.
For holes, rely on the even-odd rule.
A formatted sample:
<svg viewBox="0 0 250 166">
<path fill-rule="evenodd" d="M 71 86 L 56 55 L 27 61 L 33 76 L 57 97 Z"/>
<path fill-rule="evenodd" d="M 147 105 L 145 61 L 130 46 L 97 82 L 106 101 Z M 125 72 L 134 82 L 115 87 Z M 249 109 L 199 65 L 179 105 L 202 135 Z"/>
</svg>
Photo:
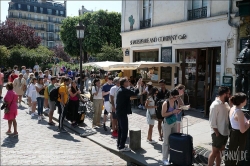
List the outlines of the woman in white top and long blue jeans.
<svg viewBox="0 0 250 166">
<path fill-rule="evenodd" d="M 37 111 L 38 111 L 38 120 L 42 120 L 43 117 L 43 105 L 44 105 L 44 91 L 45 86 L 43 84 L 43 78 L 38 78 L 36 83 L 36 100 L 37 100 Z"/>
</svg>

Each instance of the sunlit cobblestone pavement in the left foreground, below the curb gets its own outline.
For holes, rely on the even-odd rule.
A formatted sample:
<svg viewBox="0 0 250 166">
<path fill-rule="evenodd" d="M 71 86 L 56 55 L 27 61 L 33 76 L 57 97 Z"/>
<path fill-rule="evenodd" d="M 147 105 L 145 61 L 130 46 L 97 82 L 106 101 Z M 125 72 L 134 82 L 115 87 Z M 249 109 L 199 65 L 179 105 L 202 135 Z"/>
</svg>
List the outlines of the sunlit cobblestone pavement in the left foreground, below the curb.
<svg viewBox="0 0 250 166">
<path fill-rule="evenodd" d="M 1 111 L 1 165 L 127 165 L 86 138 L 56 132 L 47 117 L 41 122 L 32 119 L 25 107 L 18 110 L 18 137 L 5 135 L 7 121 Z"/>
</svg>

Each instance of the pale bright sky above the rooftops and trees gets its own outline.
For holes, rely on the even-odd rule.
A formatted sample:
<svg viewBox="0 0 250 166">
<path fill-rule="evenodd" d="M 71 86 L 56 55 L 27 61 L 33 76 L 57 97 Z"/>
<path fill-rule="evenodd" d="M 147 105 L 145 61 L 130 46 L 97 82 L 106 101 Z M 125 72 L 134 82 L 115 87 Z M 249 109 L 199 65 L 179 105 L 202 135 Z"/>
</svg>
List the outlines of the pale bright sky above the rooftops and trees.
<svg viewBox="0 0 250 166">
<path fill-rule="evenodd" d="M 8 15 L 8 3 L 10 0 L 0 0 L 0 7 L 1 7 L 1 21 L 3 22 L 6 20 L 6 16 Z M 61 2 L 63 1 L 56 1 Z M 67 0 L 67 16 L 78 16 L 78 10 L 84 6 L 87 10 L 108 10 L 108 11 L 115 11 L 121 12 L 122 3 L 121 0 L 112 0 L 112 1 L 86 1 L 86 0 Z"/>
</svg>

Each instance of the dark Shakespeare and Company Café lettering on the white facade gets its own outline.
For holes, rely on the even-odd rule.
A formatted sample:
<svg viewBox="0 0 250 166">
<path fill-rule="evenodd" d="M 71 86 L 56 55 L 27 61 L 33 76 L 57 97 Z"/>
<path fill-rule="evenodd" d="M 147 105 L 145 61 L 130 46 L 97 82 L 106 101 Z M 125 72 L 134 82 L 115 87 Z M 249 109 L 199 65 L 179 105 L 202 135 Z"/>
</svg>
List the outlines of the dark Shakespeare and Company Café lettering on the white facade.
<svg viewBox="0 0 250 166">
<path fill-rule="evenodd" d="M 145 44 L 145 43 L 155 43 L 155 42 L 165 42 L 165 41 L 171 41 L 171 43 L 172 43 L 173 40 L 183 40 L 183 39 L 186 39 L 186 38 L 187 38 L 187 36 L 185 34 L 183 34 L 183 35 L 162 36 L 162 37 L 153 37 L 153 38 L 131 40 L 130 45 Z"/>
</svg>

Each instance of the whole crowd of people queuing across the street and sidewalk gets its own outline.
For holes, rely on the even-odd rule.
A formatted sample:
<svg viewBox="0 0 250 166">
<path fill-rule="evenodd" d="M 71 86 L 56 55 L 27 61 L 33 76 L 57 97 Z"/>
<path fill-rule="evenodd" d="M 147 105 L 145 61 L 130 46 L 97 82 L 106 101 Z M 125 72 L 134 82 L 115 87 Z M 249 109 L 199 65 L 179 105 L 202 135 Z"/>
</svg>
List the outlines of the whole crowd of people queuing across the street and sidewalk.
<svg viewBox="0 0 250 166">
<path fill-rule="evenodd" d="M 59 76 L 53 74 L 53 71 L 38 70 L 34 66 L 34 71 L 22 67 L 21 72 L 14 70 L 9 75 L 6 89 L 8 90 L 4 97 L 10 108 L 8 113 L 4 114 L 4 119 L 8 120 L 9 128 L 6 134 L 17 135 L 17 108 L 21 107 L 22 97 L 27 97 L 29 112 L 32 117 L 37 116 L 38 121 L 44 119 L 43 111 L 49 110 L 49 125 L 55 125 L 52 121 L 53 112 L 58 108 L 59 113 L 59 132 L 67 132 L 63 127 L 63 121 L 70 112 L 71 116 L 67 120 L 71 125 L 78 125 L 78 107 L 79 102 L 85 102 L 80 95 L 79 75 L 71 77 L 67 72 Z M 37 71 L 38 70 L 38 71 Z M 25 71 L 25 72 L 24 72 Z M 171 133 L 180 132 L 180 123 L 184 110 L 182 100 L 185 86 L 177 85 L 173 90 L 166 89 L 165 80 L 160 80 L 157 88 L 152 82 L 144 82 L 142 78 L 114 77 L 111 73 L 106 73 L 103 79 L 100 76 L 87 78 L 90 73 L 85 71 L 83 77 L 85 81 L 85 90 L 90 88 L 93 98 L 93 128 L 103 127 L 107 130 L 106 121 L 110 114 L 111 135 L 117 137 L 117 148 L 119 151 L 130 151 L 125 145 L 128 135 L 128 114 L 132 114 L 131 97 L 136 97 L 140 104 L 138 108 L 146 109 L 146 119 L 148 124 L 147 142 L 154 144 L 157 141 L 152 139 L 153 127 L 155 121 L 158 122 L 159 140 L 162 141 L 162 159 L 165 165 L 169 164 L 169 136 Z M 117 75 L 119 76 L 119 75 Z M 88 87 L 89 80 L 92 86 Z M 3 88 L 3 74 L 0 72 L 0 96 Z M 2 97 L 1 97 L 2 98 Z M 250 126 L 250 121 L 244 117 L 242 107 L 246 105 L 247 96 L 244 93 L 236 93 L 231 96 L 228 87 L 219 87 L 218 97 L 210 106 L 209 123 L 211 126 L 212 153 L 209 156 L 209 165 L 220 165 L 221 152 L 230 136 L 229 151 L 243 151 L 246 144 L 246 131 Z M 18 103 L 18 105 L 16 104 Z M 37 112 L 36 112 L 37 107 Z M 104 109 L 103 109 L 104 107 Z M 104 114 L 101 122 L 101 114 Z M 231 124 L 231 128 L 229 127 Z M 14 132 L 11 132 L 11 127 Z M 236 161 L 227 160 L 227 165 L 237 165 Z"/>
</svg>

